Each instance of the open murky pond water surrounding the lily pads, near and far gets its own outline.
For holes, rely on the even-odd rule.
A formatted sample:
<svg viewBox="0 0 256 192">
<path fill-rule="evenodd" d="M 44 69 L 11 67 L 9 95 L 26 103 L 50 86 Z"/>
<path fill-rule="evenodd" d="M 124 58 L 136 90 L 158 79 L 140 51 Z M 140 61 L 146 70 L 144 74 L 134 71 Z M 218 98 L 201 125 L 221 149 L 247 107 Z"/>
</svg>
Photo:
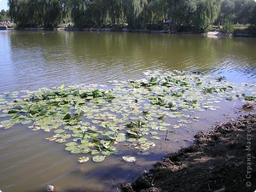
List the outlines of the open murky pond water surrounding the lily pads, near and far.
<svg viewBox="0 0 256 192">
<path fill-rule="evenodd" d="M 199 70 L 234 83 L 256 82 L 256 38 L 119 32 L 0 31 L 0 94 L 75 84 L 111 85 L 111 80 L 140 79 L 147 70 Z M 190 128 L 160 140 L 151 155 L 125 163 L 115 156 L 79 164 L 64 145 L 45 140 L 52 133 L 24 125 L 0 128 L 0 190 L 104 192 L 133 181 L 170 151 L 192 144 L 223 114 L 234 114 L 234 102 L 202 115 Z M 189 142 L 186 142 L 187 140 Z M 186 140 L 186 141 L 184 141 Z M 127 149 L 127 153 L 128 153 Z M 122 156 L 121 156 L 122 157 Z"/>
</svg>

